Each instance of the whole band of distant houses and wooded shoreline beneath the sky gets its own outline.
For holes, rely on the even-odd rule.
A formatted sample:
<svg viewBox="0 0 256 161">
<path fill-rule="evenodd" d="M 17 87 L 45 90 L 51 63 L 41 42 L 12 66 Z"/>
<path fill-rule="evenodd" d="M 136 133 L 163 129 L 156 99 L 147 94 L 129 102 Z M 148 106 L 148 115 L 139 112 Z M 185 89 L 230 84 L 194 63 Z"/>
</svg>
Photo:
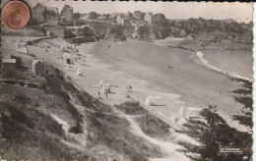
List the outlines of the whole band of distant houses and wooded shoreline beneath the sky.
<svg viewBox="0 0 256 161">
<path fill-rule="evenodd" d="M 59 12 L 57 7 L 47 7 L 41 3 L 36 3 L 32 8 L 32 26 L 35 25 L 42 27 L 41 30 L 48 35 L 56 35 L 69 43 L 92 42 L 99 39 L 124 41 L 126 38 L 154 40 L 184 37 L 193 39 L 198 34 L 214 31 L 219 31 L 227 39 L 230 37 L 230 40 L 247 41 L 247 39 L 252 39 L 253 27 L 252 23 L 238 24 L 232 19 L 167 20 L 161 13 L 141 11 L 101 15 L 96 12 L 81 14 L 74 13 L 70 5 L 64 5 Z M 235 35 L 223 35 L 222 32 L 232 32 Z"/>
</svg>

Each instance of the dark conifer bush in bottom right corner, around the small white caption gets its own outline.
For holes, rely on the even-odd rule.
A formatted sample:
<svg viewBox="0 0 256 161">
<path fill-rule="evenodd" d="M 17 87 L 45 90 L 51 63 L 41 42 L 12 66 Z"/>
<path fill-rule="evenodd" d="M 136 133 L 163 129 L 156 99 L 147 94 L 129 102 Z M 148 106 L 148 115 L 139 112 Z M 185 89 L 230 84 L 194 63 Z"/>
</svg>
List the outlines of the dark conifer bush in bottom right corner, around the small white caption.
<svg viewBox="0 0 256 161">
<path fill-rule="evenodd" d="M 193 146 L 180 143 L 190 152 L 201 154 L 203 160 L 242 160 L 243 157 L 251 158 L 252 156 L 252 135 L 239 132 L 229 127 L 224 119 L 216 113 L 217 106 L 209 106 L 209 108 L 201 111 L 201 116 L 206 120 L 207 124 L 198 122 L 188 122 L 187 131 L 184 133 L 197 137 L 202 142 L 202 146 L 195 150 Z M 201 125 L 202 128 L 198 128 Z M 194 135 L 196 134 L 196 135 Z M 223 153 L 222 147 L 240 148 L 243 153 Z"/>
</svg>

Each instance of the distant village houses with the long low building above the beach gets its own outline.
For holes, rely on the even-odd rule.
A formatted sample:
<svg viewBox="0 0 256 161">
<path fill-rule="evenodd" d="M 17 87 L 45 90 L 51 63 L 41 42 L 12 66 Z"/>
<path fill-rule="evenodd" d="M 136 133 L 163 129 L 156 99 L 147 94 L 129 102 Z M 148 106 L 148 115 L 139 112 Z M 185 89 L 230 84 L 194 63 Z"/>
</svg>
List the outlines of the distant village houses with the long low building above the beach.
<svg viewBox="0 0 256 161">
<path fill-rule="evenodd" d="M 46 24 L 44 27 L 52 34 L 57 35 L 70 43 L 81 43 L 95 41 L 100 36 L 98 29 L 94 30 L 92 24 L 110 24 L 133 27 L 133 37 L 139 36 L 139 27 L 153 27 L 155 22 L 165 20 L 163 14 L 143 13 L 112 13 L 99 15 L 96 12 L 89 14 L 74 13 L 73 7 L 64 5 L 59 12 L 57 7 L 47 7 L 41 3 L 36 3 L 32 8 L 33 24 Z M 103 32 L 104 34 L 105 32 Z M 101 32 L 102 34 L 102 32 Z M 103 35 L 104 36 L 104 35 Z M 119 36 L 119 39 L 125 38 Z"/>
</svg>

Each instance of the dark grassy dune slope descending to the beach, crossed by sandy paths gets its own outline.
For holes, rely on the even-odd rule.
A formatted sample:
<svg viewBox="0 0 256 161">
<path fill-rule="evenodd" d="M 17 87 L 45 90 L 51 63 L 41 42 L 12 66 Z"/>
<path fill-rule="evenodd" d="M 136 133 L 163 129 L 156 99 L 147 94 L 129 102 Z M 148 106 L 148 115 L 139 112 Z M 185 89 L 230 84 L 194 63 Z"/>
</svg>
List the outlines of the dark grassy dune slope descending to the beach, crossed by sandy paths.
<svg viewBox="0 0 256 161">
<path fill-rule="evenodd" d="M 1 84 L 0 152 L 3 159 L 84 161 L 92 159 L 90 156 L 105 160 L 111 155 L 119 160 L 141 161 L 161 156 L 158 147 L 130 132 L 127 120 L 118 117 L 110 106 L 87 92 L 76 90 L 63 80 L 58 70 L 47 67 L 47 77 L 34 78 L 30 66 L 32 59 L 23 58 L 23 63 L 17 72 L 18 80 L 39 85 L 27 87 L 8 81 Z M 74 107 L 68 93 L 85 108 L 84 113 Z M 87 131 L 86 148 L 72 148 L 63 143 L 62 140 L 79 145 L 78 140 L 66 135 L 52 114 L 67 122 L 69 134 L 85 134 Z M 86 129 L 82 127 L 84 123 Z"/>
</svg>

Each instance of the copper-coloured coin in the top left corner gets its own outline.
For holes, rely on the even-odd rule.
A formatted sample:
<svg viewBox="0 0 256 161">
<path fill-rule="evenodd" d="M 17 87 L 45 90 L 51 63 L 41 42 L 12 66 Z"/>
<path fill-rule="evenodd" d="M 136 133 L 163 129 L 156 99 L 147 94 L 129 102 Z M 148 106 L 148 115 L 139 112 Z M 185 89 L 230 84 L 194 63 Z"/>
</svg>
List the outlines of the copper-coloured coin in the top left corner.
<svg viewBox="0 0 256 161">
<path fill-rule="evenodd" d="M 31 13 L 28 6 L 21 1 L 7 2 L 1 12 L 1 19 L 6 27 L 20 29 L 30 21 Z"/>
</svg>

